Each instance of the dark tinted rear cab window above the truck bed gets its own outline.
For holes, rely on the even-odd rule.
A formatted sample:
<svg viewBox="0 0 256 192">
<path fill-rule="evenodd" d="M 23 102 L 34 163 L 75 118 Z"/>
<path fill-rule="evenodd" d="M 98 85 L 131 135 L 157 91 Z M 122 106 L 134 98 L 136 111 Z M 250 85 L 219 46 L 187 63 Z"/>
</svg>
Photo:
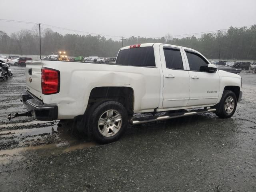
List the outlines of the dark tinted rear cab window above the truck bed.
<svg viewBox="0 0 256 192">
<path fill-rule="evenodd" d="M 155 67 L 153 47 L 139 47 L 120 50 L 116 58 L 116 65 Z"/>
</svg>

